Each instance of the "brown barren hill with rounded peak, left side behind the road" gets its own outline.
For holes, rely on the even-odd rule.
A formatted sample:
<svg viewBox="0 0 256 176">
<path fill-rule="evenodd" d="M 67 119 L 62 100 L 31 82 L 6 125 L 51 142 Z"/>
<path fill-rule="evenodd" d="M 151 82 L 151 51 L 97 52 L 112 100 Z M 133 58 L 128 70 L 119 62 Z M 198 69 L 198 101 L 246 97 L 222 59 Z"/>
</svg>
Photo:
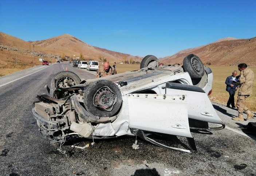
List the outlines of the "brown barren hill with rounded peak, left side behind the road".
<svg viewBox="0 0 256 176">
<path fill-rule="evenodd" d="M 107 61 L 111 62 L 123 62 L 124 60 L 130 60 L 130 58 L 136 61 L 142 60 L 142 57 L 91 46 L 70 34 L 63 34 L 47 40 L 28 42 L 0 32 L 0 44 L 46 54 L 66 55 L 71 58 L 74 55 L 79 57 L 80 54 L 83 54 L 85 60 L 99 60 L 99 57 L 106 58 Z"/>
</svg>

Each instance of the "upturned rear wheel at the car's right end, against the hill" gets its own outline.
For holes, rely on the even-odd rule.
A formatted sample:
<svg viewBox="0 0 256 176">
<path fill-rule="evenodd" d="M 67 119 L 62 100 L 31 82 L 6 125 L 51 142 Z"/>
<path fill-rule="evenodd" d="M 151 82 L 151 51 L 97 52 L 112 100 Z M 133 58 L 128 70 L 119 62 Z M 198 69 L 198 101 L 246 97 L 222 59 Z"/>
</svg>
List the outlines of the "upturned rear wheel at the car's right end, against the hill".
<svg viewBox="0 0 256 176">
<path fill-rule="evenodd" d="M 204 75 L 204 64 L 195 54 L 189 54 L 183 59 L 183 69 L 187 71 L 191 79 L 202 78 Z"/>
</svg>

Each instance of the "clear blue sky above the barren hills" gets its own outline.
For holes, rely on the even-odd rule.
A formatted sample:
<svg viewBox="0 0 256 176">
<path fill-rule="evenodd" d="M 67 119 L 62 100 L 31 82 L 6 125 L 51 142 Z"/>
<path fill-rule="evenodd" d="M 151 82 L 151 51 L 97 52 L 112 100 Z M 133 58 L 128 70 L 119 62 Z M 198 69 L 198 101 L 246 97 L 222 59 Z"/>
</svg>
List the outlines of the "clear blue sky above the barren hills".
<svg viewBox="0 0 256 176">
<path fill-rule="evenodd" d="M 0 16 L 0 31 L 25 41 L 71 34 L 142 57 L 256 37 L 256 0 L 0 0 Z"/>
</svg>

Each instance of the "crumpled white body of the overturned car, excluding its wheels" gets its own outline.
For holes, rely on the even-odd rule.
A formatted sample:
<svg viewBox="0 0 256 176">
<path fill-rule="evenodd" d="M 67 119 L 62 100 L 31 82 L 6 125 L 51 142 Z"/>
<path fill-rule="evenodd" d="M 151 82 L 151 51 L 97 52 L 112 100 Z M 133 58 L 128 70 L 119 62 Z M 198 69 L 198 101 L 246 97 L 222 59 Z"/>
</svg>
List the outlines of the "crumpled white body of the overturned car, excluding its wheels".
<svg viewBox="0 0 256 176">
<path fill-rule="evenodd" d="M 204 76 L 198 80 L 192 80 L 179 65 L 170 65 L 164 69 L 143 68 L 108 77 L 87 79 L 81 84 L 54 90 L 60 91 L 62 94 L 58 95 L 63 96 L 56 97 L 56 101 L 46 95 L 39 96 L 40 102 L 35 102 L 33 114 L 40 127 L 40 133 L 44 137 L 50 136 L 50 142 L 63 142 L 63 132 L 68 135 L 74 134 L 75 131 L 78 135 L 87 136 L 91 130 L 88 138 L 141 135 L 151 143 L 168 148 L 148 138 L 146 132 L 184 136 L 188 139 L 190 150 L 181 151 L 194 152 L 196 147 L 190 134 L 189 119 L 225 127 L 207 96 L 212 90 L 213 75 L 209 68 L 206 70 Z M 84 106 L 88 86 L 99 80 L 114 82 L 121 92 L 122 105 L 113 116 L 93 115 L 88 107 Z M 39 103 L 42 105 L 39 106 Z M 74 131 L 70 130 L 72 123 L 76 123 L 72 128 Z M 88 129 L 82 129 L 82 125 L 79 124 L 83 123 L 88 123 Z M 54 127 L 47 126 L 48 124 L 54 124 Z M 173 147 L 169 148 L 176 150 Z"/>
</svg>

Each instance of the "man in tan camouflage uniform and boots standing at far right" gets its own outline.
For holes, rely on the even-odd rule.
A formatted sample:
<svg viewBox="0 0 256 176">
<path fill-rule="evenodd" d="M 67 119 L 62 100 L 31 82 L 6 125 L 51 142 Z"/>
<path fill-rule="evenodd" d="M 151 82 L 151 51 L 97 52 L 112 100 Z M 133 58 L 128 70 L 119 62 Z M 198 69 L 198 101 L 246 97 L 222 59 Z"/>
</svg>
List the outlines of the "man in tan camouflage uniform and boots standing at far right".
<svg viewBox="0 0 256 176">
<path fill-rule="evenodd" d="M 247 114 L 247 119 L 251 119 L 255 114 L 249 111 L 248 107 L 244 106 L 245 100 L 252 94 L 252 85 L 254 79 L 254 73 L 251 69 L 247 67 L 246 64 L 239 64 L 238 70 L 240 71 L 239 75 L 239 85 L 240 89 L 238 91 L 236 107 L 238 109 L 238 117 L 232 118 L 233 120 L 244 121 L 243 112 Z"/>
</svg>

